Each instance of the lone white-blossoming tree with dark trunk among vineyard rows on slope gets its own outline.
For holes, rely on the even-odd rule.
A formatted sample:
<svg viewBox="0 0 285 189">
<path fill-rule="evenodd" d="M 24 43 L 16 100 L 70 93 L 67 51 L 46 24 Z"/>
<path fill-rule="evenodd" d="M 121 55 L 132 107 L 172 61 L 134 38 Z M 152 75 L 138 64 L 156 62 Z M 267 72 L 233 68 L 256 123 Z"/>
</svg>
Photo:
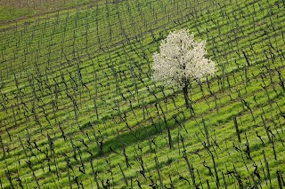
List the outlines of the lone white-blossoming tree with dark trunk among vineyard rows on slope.
<svg viewBox="0 0 285 189">
<path fill-rule="evenodd" d="M 153 81 L 183 88 L 186 107 L 190 107 L 188 86 L 205 75 L 213 75 L 215 62 L 206 59 L 206 41 L 195 41 L 188 29 L 171 32 L 153 54 Z"/>
</svg>

